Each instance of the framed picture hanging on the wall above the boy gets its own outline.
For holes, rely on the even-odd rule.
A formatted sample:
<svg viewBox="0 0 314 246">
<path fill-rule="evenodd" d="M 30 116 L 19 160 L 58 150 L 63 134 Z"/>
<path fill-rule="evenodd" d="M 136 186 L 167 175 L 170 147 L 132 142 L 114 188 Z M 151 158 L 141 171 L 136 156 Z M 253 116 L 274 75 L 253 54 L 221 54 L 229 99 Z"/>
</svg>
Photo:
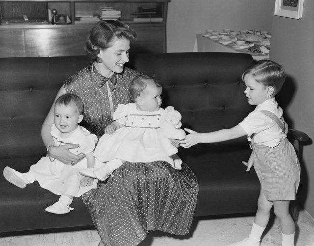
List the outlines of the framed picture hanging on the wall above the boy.
<svg viewBox="0 0 314 246">
<path fill-rule="evenodd" d="M 275 15 L 300 19 L 303 12 L 303 0 L 276 0 Z"/>
</svg>

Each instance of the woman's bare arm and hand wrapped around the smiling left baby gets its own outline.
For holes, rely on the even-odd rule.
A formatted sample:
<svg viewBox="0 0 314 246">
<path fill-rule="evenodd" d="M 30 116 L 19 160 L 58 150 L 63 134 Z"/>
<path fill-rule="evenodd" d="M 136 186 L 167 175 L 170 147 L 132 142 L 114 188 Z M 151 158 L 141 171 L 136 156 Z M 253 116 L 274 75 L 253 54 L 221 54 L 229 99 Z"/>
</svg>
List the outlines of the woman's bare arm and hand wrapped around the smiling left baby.
<svg viewBox="0 0 314 246">
<path fill-rule="evenodd" d="M 58 91 L 51 109 L 49 110 L 48 115 L 41 127 L 41 137 L 46 148 L 50 145 L 54 145 L 53 138 L 51 136 L 51 126 L 54 123 L 54 104 L 56 99 L 62 94 L 66 93 L 64 86 L 60 88 Z M 69 151 L 71 148 L 77 148 L 78 144 L 66 144 L 62 146 L 52 146 L 49 148 L 49 155 L 52 158 L 59 160 L 64 164 L 71 164 L 71 162 L 78 163 L 82 158 L 84 158 L 84 154 L 75 155 Z"/>
</svg>

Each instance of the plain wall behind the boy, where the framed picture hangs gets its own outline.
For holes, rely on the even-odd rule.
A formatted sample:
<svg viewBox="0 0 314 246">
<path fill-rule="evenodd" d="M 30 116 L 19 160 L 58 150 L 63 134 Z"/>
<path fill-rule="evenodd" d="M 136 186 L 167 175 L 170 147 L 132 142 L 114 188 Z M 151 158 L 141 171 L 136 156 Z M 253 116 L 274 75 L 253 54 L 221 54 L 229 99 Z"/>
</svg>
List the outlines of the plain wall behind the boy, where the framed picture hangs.
<svg viewBox="0 0 314 246">
<path fill-rule="evenodd" d="M 304 0 L 299 20 L 274 16 L 270 59 L 285 67 L 286 93 L 279 95 L 294 128 L 314 139 L 314 1 Z M 284 88 L 283 87 L 283 88 Z M 292 120 L 291 120 L 292 119 Z M 314 144 L 304 147 L 300 199 L 314 217 Z"/>
</svg>

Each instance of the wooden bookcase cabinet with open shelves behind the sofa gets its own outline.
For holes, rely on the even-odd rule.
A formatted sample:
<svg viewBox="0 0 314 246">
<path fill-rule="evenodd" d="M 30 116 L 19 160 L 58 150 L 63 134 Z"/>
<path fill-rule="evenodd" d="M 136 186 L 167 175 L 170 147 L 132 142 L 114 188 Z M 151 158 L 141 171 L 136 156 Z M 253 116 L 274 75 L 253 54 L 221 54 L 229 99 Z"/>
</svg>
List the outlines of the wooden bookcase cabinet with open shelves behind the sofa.
<svg viewBox="0 0 314 246">
<path fill-rule="evenodd" d="M 75 24 L 76 15 L 94 15 L 103 6 L 121 10 L 121 21 L 137 32 L 131 53 L 165 53 L 167 9 L 170 0 L 0 0 L 0 57 L 85 55 L 91 24 Z M 156 6 L 162 21 L 134 22 L 142 6 Z M 48 9 L 70 18 L 52 25 Z M 23 15 L 28 17 L 24 21 Z"/>
</svg>

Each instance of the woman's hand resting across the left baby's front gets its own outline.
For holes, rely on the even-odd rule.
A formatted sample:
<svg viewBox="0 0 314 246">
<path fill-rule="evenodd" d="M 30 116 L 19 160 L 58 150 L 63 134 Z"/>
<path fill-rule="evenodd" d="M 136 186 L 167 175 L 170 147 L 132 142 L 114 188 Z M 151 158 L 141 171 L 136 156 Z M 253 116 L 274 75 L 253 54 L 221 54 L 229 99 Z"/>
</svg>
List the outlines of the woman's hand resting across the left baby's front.
<svg viewBox="0 0 314 246">
<path fill-rule="evenodd" d="M 61 146 L 52 146 L 49 148 L 49 156 L 57 159 L 58 161 L 68 164 L 74 165 L 77 164 L 80 160 L 82 160 L 85 155 L 79 154 L 75 155 L 69 151 L 69 149 L 75 149 L 79 145 L 78 144 L 65 144 Z"/>
</svg>

